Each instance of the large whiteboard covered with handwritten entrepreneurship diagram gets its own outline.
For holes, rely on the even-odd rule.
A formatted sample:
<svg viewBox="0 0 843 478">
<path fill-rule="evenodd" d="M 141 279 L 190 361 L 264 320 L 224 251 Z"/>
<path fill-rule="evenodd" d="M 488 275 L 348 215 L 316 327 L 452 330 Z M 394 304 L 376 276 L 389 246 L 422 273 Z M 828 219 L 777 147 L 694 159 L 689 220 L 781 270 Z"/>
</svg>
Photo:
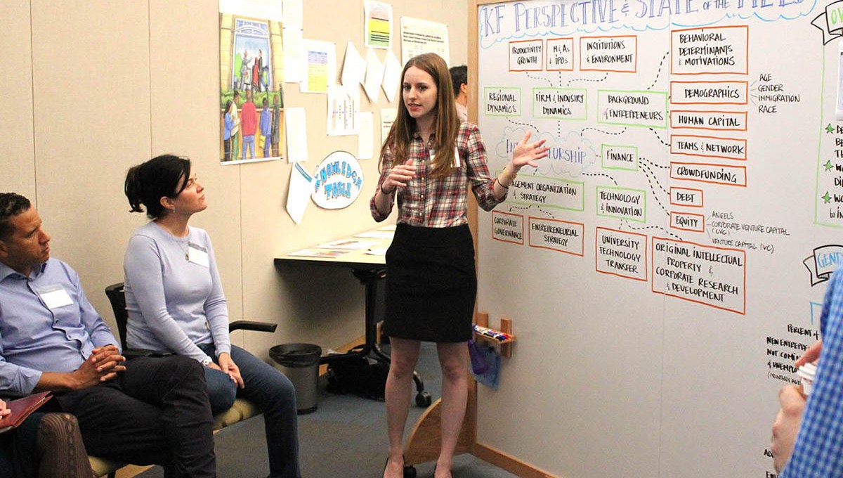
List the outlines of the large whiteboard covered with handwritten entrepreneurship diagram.
<svg viewBox="0 0 843 478">
<path fill-rule="evenodd" d="M 472 11 L 492 171 L 524 132 L 551 147 L 478 220 L 479 310 L 518 335 L 478 442 L 566 477 L 775 475 L 777 391 L 843 258 L 840 11 Z"/>
</svg>

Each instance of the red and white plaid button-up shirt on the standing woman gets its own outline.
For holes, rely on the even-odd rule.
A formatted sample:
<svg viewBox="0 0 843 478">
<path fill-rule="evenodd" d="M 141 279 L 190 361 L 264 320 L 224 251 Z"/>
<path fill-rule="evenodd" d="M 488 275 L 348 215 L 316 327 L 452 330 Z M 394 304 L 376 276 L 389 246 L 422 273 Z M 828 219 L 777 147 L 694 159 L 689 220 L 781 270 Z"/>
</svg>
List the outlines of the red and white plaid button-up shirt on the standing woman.
<svg viewBox="0 0 843 478">
<path fill-rule="evenodd" d="M 431 137 L 432 140 L 432 137 Z M 503 202 L 495 198 L 494 185 L 497 179 L 491 179 L 486 165 L 486 145 L 480 129 L 472 123 L 462 123 L 459 126 L 456 146 L 459 150 L 459 167 L 451 170 L 448 175 L 431 177 L 432 158 L 434 153 L 430 149 L 431 141 L 427 144 L 421 141 L 418 134 L 413 135 L 407 159 L 412 158 L 416 164 L 416 176 L 407 183 L 407 187 L 400 188 L 398 196 L 398 223 L 425 228 L 451 228 L 468 223 L 466 199 L 468 188 L 477 198 L 477 203 L 486 211 Z M 393 167 L 392 149 L 384 151 L 382 171 L 378 180 L 378 189 L 384 184 L 389 169 Z M 377 195 L 378 190 L 375 190 Z M 389 217 L 394 201 L 389 201 L 389 211 L 382 213 L 375 207 L 374 196 L 369 201 L 369 208 L 375 221 L 381 222 Z"/>
</svg>

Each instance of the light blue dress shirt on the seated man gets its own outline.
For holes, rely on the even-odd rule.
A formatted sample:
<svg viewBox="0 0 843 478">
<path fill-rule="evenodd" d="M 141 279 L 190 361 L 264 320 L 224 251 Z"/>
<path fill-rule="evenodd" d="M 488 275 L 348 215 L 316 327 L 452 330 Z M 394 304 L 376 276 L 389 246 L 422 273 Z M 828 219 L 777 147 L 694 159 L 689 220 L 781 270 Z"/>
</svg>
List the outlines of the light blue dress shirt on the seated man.
<svg viewBox="0 0 843 478">
<path fill-rule="evenodd" d="M 41 293 L 56 287 L 70 303 L 50 309 Z M 109 344 L 120 346 L 70 266 L 50 259 L 25 277 L 0 263 L 0 394 L 29 395 L 42 372 L 73 372 Z"/>
</svg>

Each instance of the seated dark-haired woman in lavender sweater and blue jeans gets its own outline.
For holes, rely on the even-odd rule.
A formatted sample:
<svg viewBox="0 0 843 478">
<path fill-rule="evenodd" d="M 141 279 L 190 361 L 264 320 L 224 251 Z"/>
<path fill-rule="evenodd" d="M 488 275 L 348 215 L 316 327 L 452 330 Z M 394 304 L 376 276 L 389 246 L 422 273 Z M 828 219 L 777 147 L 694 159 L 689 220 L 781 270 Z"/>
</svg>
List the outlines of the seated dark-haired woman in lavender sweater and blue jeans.
<svg viewBox="0 0 843 478">
<path fill-rule="evenodd" d="M 235 396 L 264 411 L 271 478 L 301 478 L 298 417 L 293 384 L 283 373 L 228 337 L 228 305 L 211 238 L 189 226 L 207 208 L 205 188 L 191 175 L 191 161 L 164 154 L 126 174 L 132 212 L 152 219 L 129 239 L 126 273 L 126 344 L 173 352 L 205 366 L 213 413 Z"/>
</svg>

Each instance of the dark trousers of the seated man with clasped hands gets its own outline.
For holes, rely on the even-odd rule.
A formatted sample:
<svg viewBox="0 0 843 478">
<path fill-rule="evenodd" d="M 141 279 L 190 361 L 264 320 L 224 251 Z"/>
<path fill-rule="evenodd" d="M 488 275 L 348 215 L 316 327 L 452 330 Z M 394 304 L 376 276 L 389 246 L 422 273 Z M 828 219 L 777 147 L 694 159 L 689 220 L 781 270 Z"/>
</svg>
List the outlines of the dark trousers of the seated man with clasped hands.
<svg viewBox="0 0 843 478">
<path fill-rule="evenodd" d="M 117 379 L 56 396 L 75 415 L 88 453 L 164 475 L 215 476 L 213 419 L 201 363 L 138 357 Z"/>
</svg>

